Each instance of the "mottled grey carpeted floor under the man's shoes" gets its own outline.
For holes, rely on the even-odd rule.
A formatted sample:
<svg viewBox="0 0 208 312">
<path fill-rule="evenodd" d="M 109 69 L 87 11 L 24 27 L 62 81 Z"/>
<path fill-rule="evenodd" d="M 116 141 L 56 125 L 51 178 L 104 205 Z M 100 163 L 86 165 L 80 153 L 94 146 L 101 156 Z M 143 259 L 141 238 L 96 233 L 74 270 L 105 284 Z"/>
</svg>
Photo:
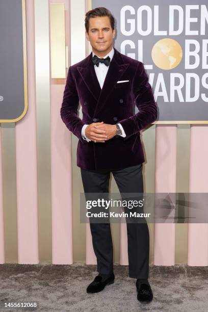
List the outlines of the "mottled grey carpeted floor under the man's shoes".
<svg viewBox="0 0 208 312">
<path fill-rule="evenodd" d="M 150 266 L 151 303 L 137 300 L 128 266 L 114 265 L 115 282 L 97 294 L 86 287 L 95 265 L 0 265 L 0 311 L 208 311 L 208 267 Z M 5 308 L 36 302 L 37 308 Z"/>
</svg>

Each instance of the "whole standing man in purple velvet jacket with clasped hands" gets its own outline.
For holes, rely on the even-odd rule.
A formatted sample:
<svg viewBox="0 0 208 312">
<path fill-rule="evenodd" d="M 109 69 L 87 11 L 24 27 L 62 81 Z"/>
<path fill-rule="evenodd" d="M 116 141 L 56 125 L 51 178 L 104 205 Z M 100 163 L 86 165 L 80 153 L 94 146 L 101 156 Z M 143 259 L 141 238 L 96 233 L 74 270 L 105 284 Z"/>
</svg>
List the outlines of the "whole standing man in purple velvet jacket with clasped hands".
<svg viewBox="0 0 208 312">
<path fill-rule="evenodd" d="M 143 193 L 140 130 L 157 119 L 143 63 L 113 47 L 114 23 L 106 8 L 86 13 L 86 38 L 92 53 L 69 67 L 63 95 L 61 118 L 79 138 L 77 166 L 85 194 L 108 193 L 111 172 L 120 193 Z M 77 115 L 79 101 L 82 119 Z M 137 278 L 138 300 L 149 302 L 153 296 L 148 282 L 148 226 L 146 222 L 126 225 L 129 277 Z M 99 275 L 87 292 L 96 293 L 114 282 L 113 244 L 109 223 L 90 223 L 90 228 Z"/>
</svg>

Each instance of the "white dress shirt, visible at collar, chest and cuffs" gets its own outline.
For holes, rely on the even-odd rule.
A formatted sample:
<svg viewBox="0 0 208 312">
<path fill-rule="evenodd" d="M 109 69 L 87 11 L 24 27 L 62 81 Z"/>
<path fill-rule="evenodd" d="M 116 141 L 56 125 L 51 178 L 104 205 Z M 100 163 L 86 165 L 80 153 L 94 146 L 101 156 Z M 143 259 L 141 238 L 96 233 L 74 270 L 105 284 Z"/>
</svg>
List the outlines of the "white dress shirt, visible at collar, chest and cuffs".
<svg viewBox="0 0 208 312">
<path fill-rule="evenodd" d="M 92 51 L 92 57 L 94 56 L 94 52 Z M 113 55 L 114 55 L 114 48 L 112 48 L 112 50 L 106 55 L 103 57 L 103 59 L 107 58 L 108 56 L 111 58 L 113 58 Z M 101 58 L 100 58 L 101 59 Z M 108 69 L 109 69 L 109 66 L 106 66 L 104 63 L 99 63 L 99 66 L 97 67 L 96 65 L 94 65 L 94 68 L 95 68 L 95 73 L 96 73 L 96 76 L 97 76 L 97 80 L 99 82 L 99 85 L 100 85 L 100 88 L 102 89 L 102 86 L 103 86 L 103 83 L 105 81 L 105 78 L 106 78 L 106 74 L 108 72 Z M 123 130 L 123 127 L 120 123 L 118 123 L 118 125 L 120 126 L 121 128 L 121 131 L 122 131 L 122 135 L 120 135 L 121 137 L 125 138 L 126 134 Z M 85 135 L 85 129 L 86 127 L 88 126 L 88 124 L 85 124 L 83 127 L 82 127 L 82 138 L 86 141 L 91 141 L 90 139 L 88 139 Z"/>
</svg>

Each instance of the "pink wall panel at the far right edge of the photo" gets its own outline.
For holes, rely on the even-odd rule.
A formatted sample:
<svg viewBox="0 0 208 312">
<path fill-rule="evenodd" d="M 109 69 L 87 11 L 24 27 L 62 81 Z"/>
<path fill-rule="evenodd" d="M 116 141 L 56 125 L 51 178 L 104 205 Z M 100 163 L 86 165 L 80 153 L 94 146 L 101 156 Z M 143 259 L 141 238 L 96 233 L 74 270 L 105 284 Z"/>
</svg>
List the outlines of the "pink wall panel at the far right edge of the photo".
<svg viewBox="0 0 208 312">
<path fill-rule="evenodd" d="M 192 125 L 190 136 L 190 193 L 208 193 L 208 126 Z M 189 224 L 188 265 L 208 266 L 208 225 Z"/>
</svg>

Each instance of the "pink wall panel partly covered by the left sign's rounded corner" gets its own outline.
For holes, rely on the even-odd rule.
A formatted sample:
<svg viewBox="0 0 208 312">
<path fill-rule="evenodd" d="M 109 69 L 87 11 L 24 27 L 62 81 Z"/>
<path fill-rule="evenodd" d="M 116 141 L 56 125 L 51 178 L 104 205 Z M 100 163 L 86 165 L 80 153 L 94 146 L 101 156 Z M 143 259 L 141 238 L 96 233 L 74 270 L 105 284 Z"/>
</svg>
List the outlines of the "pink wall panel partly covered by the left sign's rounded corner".
<svg viewBox="0 0 208 312">
<path fill-rule="evenodd" d="M 35 96 L 34 3 L 27 2 L 28 102 L 27 114 L 16 122 L 16 179 L 18 262 L 36 264 L 38 259 L 38 192 Z"/>
</svg>

